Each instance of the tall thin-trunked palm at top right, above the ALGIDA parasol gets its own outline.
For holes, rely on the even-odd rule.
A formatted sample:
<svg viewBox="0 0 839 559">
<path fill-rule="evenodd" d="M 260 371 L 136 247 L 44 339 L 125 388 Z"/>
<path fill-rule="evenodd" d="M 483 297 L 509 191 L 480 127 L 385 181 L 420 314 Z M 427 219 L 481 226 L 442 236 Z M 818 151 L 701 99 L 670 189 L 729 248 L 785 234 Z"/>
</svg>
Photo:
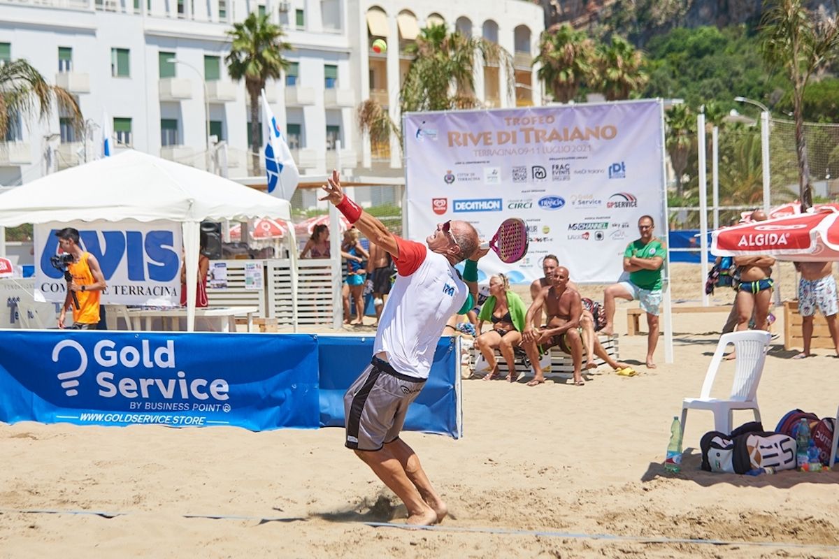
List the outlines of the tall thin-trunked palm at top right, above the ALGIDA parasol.
<svg viewBox="0 0 839 559">
<path fill-rule="evenodd" d="M 820 18 L 802 0 L 776 0 L 761 20 L 763 58 L 782 66 L 792 82 L 795 152 L 801 210 L 813 205 L 804 136 L 804 93 L 810 76 L 839 56 L 839 16 Z"/>
</svg>

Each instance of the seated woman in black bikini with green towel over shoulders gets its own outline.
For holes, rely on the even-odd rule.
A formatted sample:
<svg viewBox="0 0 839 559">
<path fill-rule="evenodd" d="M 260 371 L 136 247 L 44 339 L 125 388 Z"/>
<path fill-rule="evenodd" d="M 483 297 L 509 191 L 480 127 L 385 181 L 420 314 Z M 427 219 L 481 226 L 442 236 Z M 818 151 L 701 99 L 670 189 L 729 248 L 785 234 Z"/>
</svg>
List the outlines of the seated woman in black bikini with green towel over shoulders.
<svg viewBox="0 0 839 559">
<path fill-rule="evenodd" d="M 495 349 L 498 349 L 507 363 L 507 380 L 515 382 L 519 375 L 516 373 L 513 348 L 518 346 L 522 339 L 526 314 L 524 302 L 519 295 L 510 291 L 510 284 L 503 274 L 489 278 L 489 293 L 477 318 L 478 336 L 475 340 L 477 349 L 491 367 L 487 376 L 483 378 L 492 380 L 498 375 L 498 361 L 495 359 Z M 482 333 L 483 323 L 487 321 L 492 323 L 492 329 Z"/>
</svg>

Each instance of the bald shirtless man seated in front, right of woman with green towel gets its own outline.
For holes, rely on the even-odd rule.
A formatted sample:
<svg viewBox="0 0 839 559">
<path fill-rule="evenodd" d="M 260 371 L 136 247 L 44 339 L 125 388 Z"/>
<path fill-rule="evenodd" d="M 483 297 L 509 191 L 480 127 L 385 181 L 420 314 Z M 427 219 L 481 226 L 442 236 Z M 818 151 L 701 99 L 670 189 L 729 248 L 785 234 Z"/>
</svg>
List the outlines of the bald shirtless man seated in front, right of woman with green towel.
<svg viewBox="0 0 839 559">
<path fill-rule="evenodd" d="M 580 317 L 582 315 L 582 300 L 580 293 L 568 287 L 568 269 L 558 266 L 551 277 L 551 286 L 545 287 L 534 298 L 524 320 L 522 345 L 533 365 L 534 378 L 528 386 L 545 383 L 545 375 L 539 365 L 539 347 L 545 351 L 555 345 L 571 353 L 574 360 L 574 384 L 585 385 L 582 380 L 582 338 L 580 335 Z M 546 325 L 540 329 L 533 326 L 537 312 L 541 312 L 542 305 L 548 314 Z M 539 346 L 539 347 L 537 347 Z"/>
</svg>

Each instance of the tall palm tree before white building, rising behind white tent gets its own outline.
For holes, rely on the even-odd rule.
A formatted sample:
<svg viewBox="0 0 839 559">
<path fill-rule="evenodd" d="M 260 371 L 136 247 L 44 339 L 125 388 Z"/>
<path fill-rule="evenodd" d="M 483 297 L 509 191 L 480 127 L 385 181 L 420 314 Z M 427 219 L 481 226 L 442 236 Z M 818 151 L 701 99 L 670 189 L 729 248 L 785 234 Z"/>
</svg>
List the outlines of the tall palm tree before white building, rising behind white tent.
<svg viewBox="0 0 839 559">
<path fill-rule="evenodd" d="M 262 145 L 262 131 L 259 129 L 259 95 L 268 78 L 278 80 L 283 70 L 289 68 L 289 61 L 283 58 L 291 44 L 283 40 L 284 32 L 279 25 L 268 21 L 268 16 L 252 12 L 242 23 L 234 23 L 227 31 L 232 39 L 230 54 L 227 54 L 227 71 L 233 80 L 244 78 L 245 89 L 250 97 L 251 110 L 251 155 L 253 169 L 259 168 L 259 147 Z"/>
</svg>

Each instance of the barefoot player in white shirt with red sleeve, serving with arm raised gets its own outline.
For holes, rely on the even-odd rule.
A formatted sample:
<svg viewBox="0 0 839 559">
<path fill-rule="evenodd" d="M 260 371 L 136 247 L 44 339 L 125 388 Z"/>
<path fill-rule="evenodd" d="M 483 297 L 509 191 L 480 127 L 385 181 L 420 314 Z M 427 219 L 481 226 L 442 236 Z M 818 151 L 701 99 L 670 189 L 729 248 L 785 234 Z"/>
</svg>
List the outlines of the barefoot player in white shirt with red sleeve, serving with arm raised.
<svg viewBox="0 0 839 559">
<path fill-rule="evenodd" d="M 438 224 L 425 243 L 407 241 L 347 198 L 336 171 L 323 189 L 321 200 L 388 251 L 399 271 L 378 323 L 373 360 L 344 395 L 345 444 L 402 499 L 409 524 L 436 524 L 446 504 L 399 432 L 428 378 L 446 321 L 475 306 L 477 260 L 489 246 L 480 247 L 475 228 L 456 220 Z M 464 260 L 461 277 L 454 266 Z"/>
</svg>

